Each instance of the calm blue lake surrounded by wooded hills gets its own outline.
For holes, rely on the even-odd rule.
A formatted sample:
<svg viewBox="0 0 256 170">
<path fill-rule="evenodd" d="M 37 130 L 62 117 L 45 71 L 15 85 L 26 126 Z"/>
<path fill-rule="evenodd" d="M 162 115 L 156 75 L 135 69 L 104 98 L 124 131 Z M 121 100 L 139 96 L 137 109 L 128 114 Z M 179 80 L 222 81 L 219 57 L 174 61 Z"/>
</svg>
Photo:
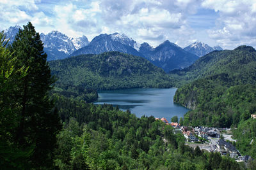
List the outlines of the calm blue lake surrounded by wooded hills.
<svg viewBox="0 0 256 170">
<path fill-rule="evenodd" d="M 187 108 L 173 103 L 177 88 L 170 89 L 127 89 L 99 91 L 99 99 L 94 104 L 113 104 L 120 110 L 131 110 L 136 117 L 143 115 L 167 118 L 183 117 Z"/>
</svg>

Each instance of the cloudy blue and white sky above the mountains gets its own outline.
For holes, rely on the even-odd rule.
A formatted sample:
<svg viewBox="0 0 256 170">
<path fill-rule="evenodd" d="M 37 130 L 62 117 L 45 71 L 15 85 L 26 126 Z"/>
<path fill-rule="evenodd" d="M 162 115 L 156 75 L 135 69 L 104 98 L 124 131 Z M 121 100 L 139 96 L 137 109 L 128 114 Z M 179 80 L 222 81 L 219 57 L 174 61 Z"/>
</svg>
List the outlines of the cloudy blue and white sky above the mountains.
<svg viewBox="0 0 256 170">
<path fill-rule="evenodd" d="M 124 33 L 157 46 L 195 41 L 256 47 L 256 0 L 0 0 L 0 30 L 31 22 L 37 32 L 69 37 Z"/>
</svg>

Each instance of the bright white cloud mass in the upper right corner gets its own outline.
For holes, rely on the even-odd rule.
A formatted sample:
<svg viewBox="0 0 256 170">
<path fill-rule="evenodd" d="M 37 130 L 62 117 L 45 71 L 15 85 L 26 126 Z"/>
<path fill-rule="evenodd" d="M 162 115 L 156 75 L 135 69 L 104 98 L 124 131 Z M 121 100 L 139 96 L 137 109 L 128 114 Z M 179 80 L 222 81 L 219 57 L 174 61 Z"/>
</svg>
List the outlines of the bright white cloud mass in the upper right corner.
<svg viewBox="0 0 256 170">
<path fill-rule="evenodd" d="M 205 0 L 204 8 L 220 13 L 216 27 L 209 30 L 209 36 L 224 48 L 236 48 L 238 45 L 256 46 L 256 1 L 212 1 Z"/>
</svg>

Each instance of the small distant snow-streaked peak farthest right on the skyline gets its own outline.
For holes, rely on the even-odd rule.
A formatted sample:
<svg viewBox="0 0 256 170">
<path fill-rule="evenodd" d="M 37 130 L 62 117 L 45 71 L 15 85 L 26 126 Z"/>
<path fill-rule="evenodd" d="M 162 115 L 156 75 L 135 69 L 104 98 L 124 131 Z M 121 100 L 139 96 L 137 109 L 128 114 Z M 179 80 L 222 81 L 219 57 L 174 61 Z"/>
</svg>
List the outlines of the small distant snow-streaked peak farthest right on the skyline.
<svg viewBox="0 0 256 170">
<path fill-rule="evenodd" d="M 198 57 L 202 57 L 206 55 L 207 53 L 213 52 L 215 50 L 221 51 L 223 50 L 220 46 L 209 46 L 205 43 L 202 43 L 200 41 L 195 42 L 187 47 L 184 48 L 187 52 L 193 53 L 197 55 Z"/>
</svg>

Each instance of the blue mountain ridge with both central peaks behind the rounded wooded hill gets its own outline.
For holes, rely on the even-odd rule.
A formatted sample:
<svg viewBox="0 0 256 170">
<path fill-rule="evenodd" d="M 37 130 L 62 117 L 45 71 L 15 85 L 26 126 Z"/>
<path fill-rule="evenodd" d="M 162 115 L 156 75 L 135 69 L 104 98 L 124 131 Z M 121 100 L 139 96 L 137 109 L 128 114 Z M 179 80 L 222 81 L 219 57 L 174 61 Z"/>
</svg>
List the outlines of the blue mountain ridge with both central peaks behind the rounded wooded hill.
<svg viewBox="0 0 256 170">
<path fill-rule="evenodd" d="M 136 50 L 138 49 L 138 50 Z M 99 54 L 103 52 L 123 52 L 131 55 L 144 57 L 155 66 L 161 67 L 168 72 L 173 69 L 188 67 L 198 59 L 196 55 L 186 52 L 170 41 L 164 41 L 161 45 L 153 48 L 148 43 L 138 45 L 136 41 L 128 38 L 125 34 L 100 34 L 83 48 L 72 53 L 70 56 L 82 54 Z"/>
</svg>

